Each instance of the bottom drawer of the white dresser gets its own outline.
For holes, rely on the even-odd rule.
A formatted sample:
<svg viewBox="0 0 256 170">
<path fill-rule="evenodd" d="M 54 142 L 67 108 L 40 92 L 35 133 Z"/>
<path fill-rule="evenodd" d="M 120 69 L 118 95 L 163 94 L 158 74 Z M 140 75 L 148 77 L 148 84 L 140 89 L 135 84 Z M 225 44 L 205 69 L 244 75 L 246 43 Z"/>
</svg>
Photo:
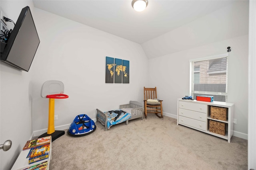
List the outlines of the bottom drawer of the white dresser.
<svg viewBox="0 0 256 170">
<path fill-rule="evenodd" d="M 179 123 L 206 131 L 206 122 L 179 116 Z"/>
</svg>

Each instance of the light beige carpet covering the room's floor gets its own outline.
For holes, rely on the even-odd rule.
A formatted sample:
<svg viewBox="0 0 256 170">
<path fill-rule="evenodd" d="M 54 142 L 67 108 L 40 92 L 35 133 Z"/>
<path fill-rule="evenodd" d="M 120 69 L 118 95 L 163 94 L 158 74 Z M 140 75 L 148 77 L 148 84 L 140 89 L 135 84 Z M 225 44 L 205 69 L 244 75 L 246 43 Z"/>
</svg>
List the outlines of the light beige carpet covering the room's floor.
<svg viewBox="0 0 256 170">
<path fill-rule="evenodd" d="M 247 140 L 231 143 L 148 114 L 104 131 L 52 142 L 50 170 L 247 170 Z"/>
</svg>

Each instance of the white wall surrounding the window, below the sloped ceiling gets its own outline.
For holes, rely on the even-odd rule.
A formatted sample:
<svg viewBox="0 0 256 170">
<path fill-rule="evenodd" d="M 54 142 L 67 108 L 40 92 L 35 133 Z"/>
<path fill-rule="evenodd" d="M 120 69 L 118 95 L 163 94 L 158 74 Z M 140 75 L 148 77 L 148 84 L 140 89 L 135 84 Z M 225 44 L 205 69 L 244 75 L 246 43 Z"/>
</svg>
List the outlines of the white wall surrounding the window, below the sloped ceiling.
<svg viewBox="0 0 256 170">
<path fill-rule="evenodd" d="M 157 86 L 158 98 L 164 100 L 164 114 L 176 117 L 177 99 L 189 95 L 189 60 L 227 53 L 228 46 L 232 50 L 228 63 L 228 102 L 235 104 L 234 118 L 237 119 L 234 136 L 247 138 L 248 35 L 150 59 L 149 68 L 161 69 L 149 70 L 149 85 Z"/>
</svg>

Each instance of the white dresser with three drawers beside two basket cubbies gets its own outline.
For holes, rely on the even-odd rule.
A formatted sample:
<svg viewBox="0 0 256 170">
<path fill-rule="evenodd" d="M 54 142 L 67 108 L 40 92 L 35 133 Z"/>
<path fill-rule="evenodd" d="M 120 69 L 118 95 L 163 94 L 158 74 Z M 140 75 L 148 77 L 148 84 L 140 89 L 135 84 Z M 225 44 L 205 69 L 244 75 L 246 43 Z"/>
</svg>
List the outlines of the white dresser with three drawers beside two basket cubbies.
<svg viewBox="0 0 256 170">
<path fill-rule="evenodd" d="M 210 107 L 224 107 L 227 109 L 227 120 L 212 119 L 210 117 Z M 217 121 L 224 123 L 226 133 L 220 135 L 218 133 L 212 133 L 209 131 L 209 121 Z M 202 102 L 197 100 L 182 100 L 178 99 L 178 113 L 177 113 L 177 125 L 184 125 L 198 131 L 208 133 L 223 139 L 228 140 L 233 135 L 233 122 L 234 122 L 234 104 L 226 102 Z"/>
</svg>

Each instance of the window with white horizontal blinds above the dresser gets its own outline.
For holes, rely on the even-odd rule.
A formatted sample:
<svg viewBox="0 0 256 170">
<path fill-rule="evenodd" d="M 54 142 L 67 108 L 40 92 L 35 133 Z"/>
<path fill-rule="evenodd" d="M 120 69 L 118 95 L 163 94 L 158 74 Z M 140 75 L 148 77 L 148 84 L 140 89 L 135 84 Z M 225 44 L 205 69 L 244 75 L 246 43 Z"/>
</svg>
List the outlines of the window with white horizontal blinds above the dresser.
<svg viewBox="0 0 256 170">
<path fill-rule="evenodd" d="M 226 102 L 228 84 L 228 54 L 190 60 L 191 96 L 214 96 L 214 101 Z"/>
</svg>

